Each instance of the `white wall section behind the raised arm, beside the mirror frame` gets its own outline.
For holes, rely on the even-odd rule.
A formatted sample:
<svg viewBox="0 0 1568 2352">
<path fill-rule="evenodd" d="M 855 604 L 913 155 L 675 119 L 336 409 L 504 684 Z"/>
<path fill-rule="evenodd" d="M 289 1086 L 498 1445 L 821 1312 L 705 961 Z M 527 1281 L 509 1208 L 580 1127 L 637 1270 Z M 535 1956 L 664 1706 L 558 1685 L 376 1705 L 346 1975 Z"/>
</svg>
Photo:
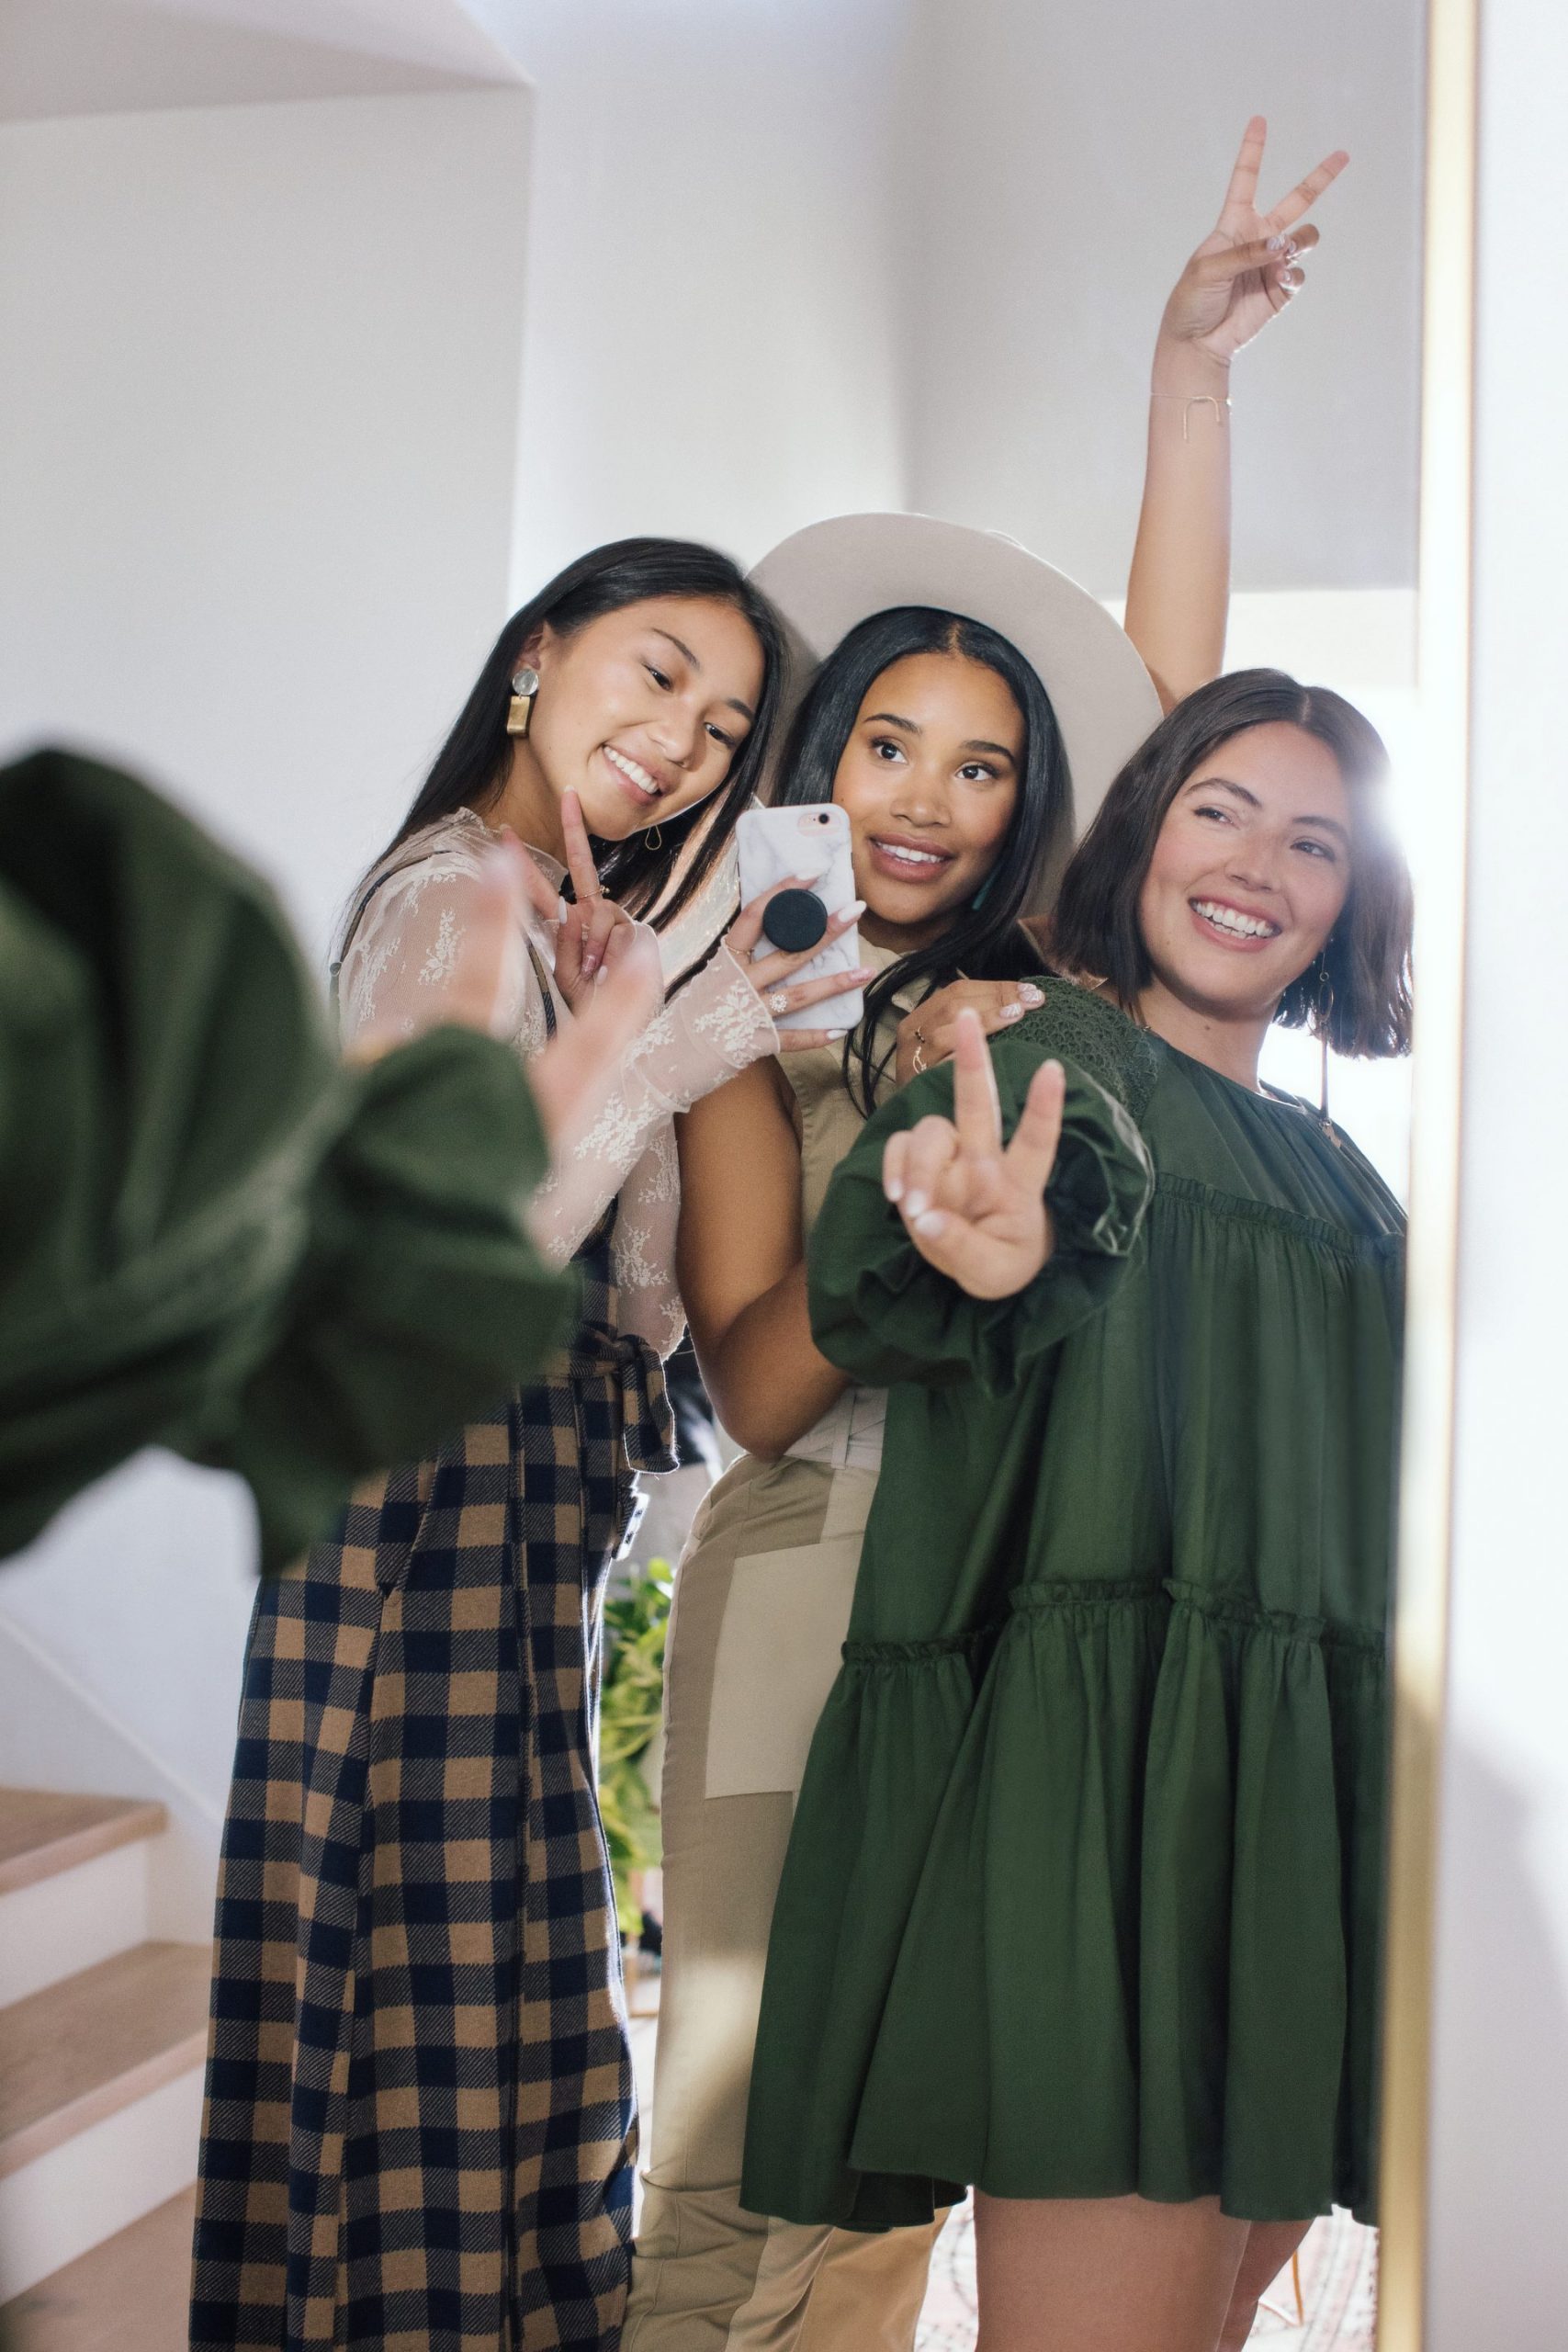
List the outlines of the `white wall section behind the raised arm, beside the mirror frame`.
<svg viewBox="0 0 1568 2352">
<path fill-rule="evenodd" d="M 912 503 L 1124 593 L 1159 313 L 1262 113 L 1265 202 L 1331 148 L 1352 165 L 1293 315 L 1232 374 L 1237 586 L 1410 586 L 1422 21 L 1425 0 L 914 0 Z"/>
</svg>

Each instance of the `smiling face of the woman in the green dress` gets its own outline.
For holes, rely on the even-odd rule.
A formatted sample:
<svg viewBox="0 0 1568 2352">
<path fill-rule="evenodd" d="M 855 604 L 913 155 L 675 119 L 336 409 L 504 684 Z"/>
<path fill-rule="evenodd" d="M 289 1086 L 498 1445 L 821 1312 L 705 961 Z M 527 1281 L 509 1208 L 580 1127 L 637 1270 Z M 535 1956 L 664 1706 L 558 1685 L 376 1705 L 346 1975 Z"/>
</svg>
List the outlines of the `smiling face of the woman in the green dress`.
<svg viewBox="0 0 1568 2352">
<path fill-rule="evenodd" d="M 1349 891 L 1335 755 L 1286 722 L 1246 727 L 1166 809 L 1138 898 L 1154 990 L 1208 1021 L 1262 1023 L 1314 962 Z"/>
</svg>

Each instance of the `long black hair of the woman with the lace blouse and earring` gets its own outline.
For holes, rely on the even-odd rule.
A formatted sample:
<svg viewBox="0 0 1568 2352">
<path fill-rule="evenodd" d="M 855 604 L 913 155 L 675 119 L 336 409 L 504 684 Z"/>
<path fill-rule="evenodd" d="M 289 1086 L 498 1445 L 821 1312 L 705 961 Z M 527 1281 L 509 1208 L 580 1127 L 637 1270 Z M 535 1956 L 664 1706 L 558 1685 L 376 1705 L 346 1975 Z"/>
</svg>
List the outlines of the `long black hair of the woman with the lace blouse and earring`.
<svg viewBox="0 0 1568 2352">
<path fill-rule="evenodd" d="M 505 715 L 512 696 L 512 673 L 517 670 L 527 642 L 548 623 L 557 637 L 571 637 L 590 621 L 625 604 L 642 604 L 649 597 L 703 597 L 712 604 L 729 604 L 750 621 L 762 647 L 762 694 L 750 734 L 729 776 L 717 793 L 675 818 L 661 818 L 661 847 L 649 849 L 644 833 L 632 833 L 623 842 L 595 842 L 595 861 L 607 896 L 632 913 L 642 913 L 661 896 L 675 870 L 693 828 L 705 821 L 708 830 L 679 887 L 654 915 L 663 929 L 672 915 L 701 889 L 724 851 L 736 818 L 752 800 L 762 764 L 766 760 L 769 734 L 778 713 L 785 673 L 785 637 L 778 614 L 759 588 L 745 579 L 729 555 L 698 546 L 691 539 L 616 539 L 604 548 L 578 555 L 574 564 L 557 572 L 538 595 L 512 614 L 496 637 L 473 694 L 458 710 L 456 724 L 435 755 L 430 774 L 414 795 L 414 804 L 402 826 L 381 851 L 388 858 L 411 833 L 451 816 L 456 809 L 484 814 L 505 781 L 512 755 L 512 736 L 505 731 Z M 376 863 L 381 863 L 376 858 Z"/>
</svg>

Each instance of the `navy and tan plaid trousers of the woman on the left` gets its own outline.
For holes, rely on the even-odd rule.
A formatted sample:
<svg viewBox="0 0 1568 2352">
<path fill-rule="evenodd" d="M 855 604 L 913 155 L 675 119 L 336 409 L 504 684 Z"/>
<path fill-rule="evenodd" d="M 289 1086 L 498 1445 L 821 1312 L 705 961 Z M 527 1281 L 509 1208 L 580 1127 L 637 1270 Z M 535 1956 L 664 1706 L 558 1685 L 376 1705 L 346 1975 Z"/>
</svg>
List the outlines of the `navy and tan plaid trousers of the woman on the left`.
<svg viewBox="0 0 1568 2352">
<path fill-rule="evenodd" d="M 635 2110 L 599 1604 L 658 1362 L 571 1357 L 256 1599 L 216 1910 L 190 2343 L 614 2352 Z"/>
</svg>

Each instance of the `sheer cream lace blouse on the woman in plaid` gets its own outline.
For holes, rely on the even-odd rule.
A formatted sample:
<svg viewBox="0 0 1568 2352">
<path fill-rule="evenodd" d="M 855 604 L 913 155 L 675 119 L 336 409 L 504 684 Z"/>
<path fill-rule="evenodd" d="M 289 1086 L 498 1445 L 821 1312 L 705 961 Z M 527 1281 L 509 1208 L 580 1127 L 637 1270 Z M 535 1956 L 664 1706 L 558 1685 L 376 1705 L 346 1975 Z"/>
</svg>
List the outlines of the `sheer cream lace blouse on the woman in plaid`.
<svg viewBox="0 0 1568 2352">
<path fill-rule="evenodd" d="M 480 861 L 491 840 L 491 830 L 470 809 L 458 809 L 411 835 L 364 877 L 355 898 L 364 913 L 339 971 L 343 1042 L 371 1025 L 407 1035 L 430 1025 L 430 995 L 440 995 L 451 981 Z M 559 884 L 562 868 L 555 858 L 541 849 L 529 856 Z M 550 976 L 552 927 L 531 922 L 529 943 Z M 569 1023 L 571 1011 L 552 976 L 548 988 L 557 1025 Z M 545 1044 L 548 1021 L 524 941 L 508 993 L 505 1035 L 527 1061 Z M 616 1202 L 611 1242 L 623 1324 L 658 1355 L 675 1348 L 684 1324 L 675 1289 L 679 1164 L 670 1122 L 677 1110 L 689 1110 L 736 1070 L 776 1049 L 778 1035 L 762 997 L 729 948 L 719 946 L 712 962 L 686 981 L 628 1049 L 614 1094 L 534 1200 L 534 1235 L 555 1263 L 564 1263 L 609 1202 Z"/>
</svg>

